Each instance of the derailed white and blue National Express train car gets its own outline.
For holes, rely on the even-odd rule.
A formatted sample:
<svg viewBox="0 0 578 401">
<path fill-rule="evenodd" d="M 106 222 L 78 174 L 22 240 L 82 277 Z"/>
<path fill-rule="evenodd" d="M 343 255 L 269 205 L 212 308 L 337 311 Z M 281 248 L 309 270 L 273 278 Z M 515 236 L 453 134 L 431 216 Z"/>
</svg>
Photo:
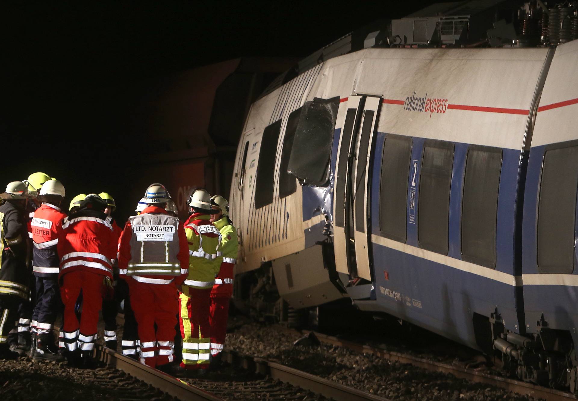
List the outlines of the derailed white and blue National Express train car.
<svg viewBox="0 0 578 401">
<path fill-rule="evenodd" d="M 578 41 L 367 48 L 257 100 L 236 296 L 350 298 L 575 391 L 577 66 Z"/>
</svg>

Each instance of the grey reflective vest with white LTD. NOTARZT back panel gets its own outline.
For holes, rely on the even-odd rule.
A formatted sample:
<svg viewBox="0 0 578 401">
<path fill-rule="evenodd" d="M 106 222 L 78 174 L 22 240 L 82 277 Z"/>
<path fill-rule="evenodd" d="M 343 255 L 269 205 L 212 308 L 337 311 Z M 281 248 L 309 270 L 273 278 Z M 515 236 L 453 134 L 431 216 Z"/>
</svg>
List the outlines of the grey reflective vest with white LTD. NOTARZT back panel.
<svg viewBox="0 0 578 401">
<path fill-rule="evenodd" d="M 165 213 L 144 213 L 128 220 L 132 227 L 131 258 L 121 274 L 180 276 L 179 219 Z"/>
</svg>

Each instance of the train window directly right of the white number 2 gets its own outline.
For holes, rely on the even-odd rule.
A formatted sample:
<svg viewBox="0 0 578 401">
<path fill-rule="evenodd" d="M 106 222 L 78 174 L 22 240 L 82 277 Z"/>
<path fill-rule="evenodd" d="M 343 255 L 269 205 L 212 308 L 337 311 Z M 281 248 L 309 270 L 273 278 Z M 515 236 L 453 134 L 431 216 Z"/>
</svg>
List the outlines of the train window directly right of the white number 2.
<svg viewBox="0 0 578 401">
<path fill-rule="evenodd" d="M 421 160 L 420 188 L 417 193 L 417 241 L 421 248 L 447 254 L 454 144 L 427 140 Z"/>
</svg>

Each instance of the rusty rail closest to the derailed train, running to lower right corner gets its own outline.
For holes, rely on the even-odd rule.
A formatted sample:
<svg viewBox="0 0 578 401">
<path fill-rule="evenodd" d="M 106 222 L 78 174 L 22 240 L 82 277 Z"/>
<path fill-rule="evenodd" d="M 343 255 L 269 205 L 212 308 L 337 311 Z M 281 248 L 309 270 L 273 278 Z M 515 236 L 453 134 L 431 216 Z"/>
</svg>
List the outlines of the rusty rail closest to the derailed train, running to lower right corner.
<svg viewBox="0 0 578 401">
<path fill-rule="evenodd" d="M 513 391 L 520 395 L 528 395 L 534 398 L 542 398 L 546 401 L 570 401 L 578 399 L 575 395 L 568 392 L 558 391 L 546 387 L 541 387 L 535 384 L 526 383 L 524 381 L 513 380 L 501 376 L 478 372 L 474 369 L 461 368 L 460 366 L 449 365 L 448 363 L 440 363 L 430 361 L 428 359 L 419 358 L 415 355 L 399 353 L 397 351 L 388 351 L 384 348 L 370 347 L 363 344 L 342 340 L 334 336 L 325 335 L 309 330 L 296 331 L 278 326 L 280 330 L 288 332 L 299 332 L 302 335 L 314 333 L 318 340 L 322 343 L 331 344 L 334 346 L 349 348 L 358 353 L 375 354 L 377 357 L 388 359 L 390 361 L 397 361 L 401 363 L 409 363 L 410 365 L 418 366 L 419 368 L 427 369 L 433 372 L 450 373 L 456 377 L 464 378 L 476 383 L 484 383 L 494 385 Z"/>
</svg>

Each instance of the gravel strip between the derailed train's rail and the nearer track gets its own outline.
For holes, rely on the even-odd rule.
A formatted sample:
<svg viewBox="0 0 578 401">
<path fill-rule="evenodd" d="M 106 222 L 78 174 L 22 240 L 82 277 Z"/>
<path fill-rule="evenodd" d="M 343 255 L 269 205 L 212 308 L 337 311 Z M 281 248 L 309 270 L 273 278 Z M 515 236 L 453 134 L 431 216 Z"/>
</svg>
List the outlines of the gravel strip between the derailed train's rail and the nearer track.
<svg viewBox="0 0 578 401">
<path fill-rule="evenodd" d="M 537 400 L 452 374 L 429 372 L 373 354 L 358 354 L 344 347 L 294 346 L 300 337 L 297 332 L 244 324 L 227 334 L 226 346 L 394 400 Z"/>
</svg>

